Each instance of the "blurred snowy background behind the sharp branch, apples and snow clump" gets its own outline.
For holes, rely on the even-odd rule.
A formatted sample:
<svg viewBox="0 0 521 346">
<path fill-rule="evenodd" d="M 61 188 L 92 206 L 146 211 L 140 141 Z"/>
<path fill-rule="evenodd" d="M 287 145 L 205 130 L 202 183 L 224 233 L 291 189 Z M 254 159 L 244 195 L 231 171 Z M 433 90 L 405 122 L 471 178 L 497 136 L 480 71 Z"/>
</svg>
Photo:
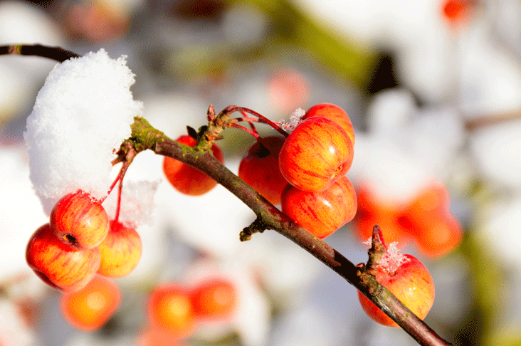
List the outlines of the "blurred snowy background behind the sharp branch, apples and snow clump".
<svg viewBox="0 0 521 346">
<path fill-rule="evenodd" d="M 325 241 L 367 261 L 362 242 L 380 224 L 433 276 L 428 325 L 453 345 L 510 346 L 521 345 L 520 21 L 519 0 L 1 1 L 0 45 L 126 55 L 144 117 L 174 138 L 204 125 L 210 104 L 274 121 L 339 105 L 357 136 L 347 177 L 359 213 Z M 70 325 L 62 293 L 24 257 L 48 216 L 28 178 L 23 130 L 55 64 L 0 57 L 0 345 L 164 345 L 149 330 L 149 295 L 211 278 L 231 283 L 236 304 L 179 345 L 416 345 L 373 323 L 351 285 L 282 236 L 240 243 L 253 212 L 221 187 L 179 194 L 151 152 L 125 179 L 157 192 L 137 228 L 142 260 L 114 280 L 122 303 L 95 332 Z M 253 138 L 224 137 L 237 172 Z"/>
</svg>

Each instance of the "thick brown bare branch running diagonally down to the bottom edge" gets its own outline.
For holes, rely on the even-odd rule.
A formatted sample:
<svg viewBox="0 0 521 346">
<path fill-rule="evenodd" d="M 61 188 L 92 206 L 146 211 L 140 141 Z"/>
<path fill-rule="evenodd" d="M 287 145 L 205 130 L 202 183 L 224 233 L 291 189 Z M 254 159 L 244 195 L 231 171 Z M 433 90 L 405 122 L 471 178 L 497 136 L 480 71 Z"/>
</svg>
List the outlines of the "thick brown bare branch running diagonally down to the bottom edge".
<svg viewBox="0 0 521 346">
<path fill-rule="evenodd" d="M 386 315 L 389 315 L 392 320 L 408 332 L 411 337 L 414 337 L 420 345 L 451 345 L 439 337 L 423 320 L 414 315 L 409 308 L 406 308 L 389 290 L 376 281 L 373 275 L 364 271 L 362 267 L 354 266 L 341 253 L 280 212 L 279 209 L 270 204 L 269 201 L 264 199 L 246 182 L 223 166 L 211 152 L 204 151 L 201 154 L 201 151 L 197 150 L 196 147 L 190 148 L 186 145 L 180 145 L 166 136 L 162 137 L 159 135 L 162 132 L 155 130 L 150 125 L 144 125 L 143 122 L 146 122 L 146 120 L 139 117 L 135 118 L 135 123 L 137 123 L 135 127 L 140 129 L 139 133 L 132 132 L 135 142 L 143 143 L 140 136 L 144 136 L 143 141 L 148 142 L 149 149 L 156 154 L 178 159 L 191 167 L 199 169 L 223 185 L 256 214 L 257 220 L 255 224 L 262 227 L 255 227 L 254 231 L 273 229 L 297 243 L 311 253 L 312 256 L 315 256 L 322 263 L 325 263 L 326 266 L 332 268 L 347 282 L 354 285 L 374 305 L 377 305 Z M 147 130 L 145 130 L 147 126 L 149 126 L 149 133 L 152 135 L 147 134 Z M 151 138 L 157 139 L 157 142 L 152 144 Z M 246 229 L 249 230 L 249 228 Z"/>
</svg>

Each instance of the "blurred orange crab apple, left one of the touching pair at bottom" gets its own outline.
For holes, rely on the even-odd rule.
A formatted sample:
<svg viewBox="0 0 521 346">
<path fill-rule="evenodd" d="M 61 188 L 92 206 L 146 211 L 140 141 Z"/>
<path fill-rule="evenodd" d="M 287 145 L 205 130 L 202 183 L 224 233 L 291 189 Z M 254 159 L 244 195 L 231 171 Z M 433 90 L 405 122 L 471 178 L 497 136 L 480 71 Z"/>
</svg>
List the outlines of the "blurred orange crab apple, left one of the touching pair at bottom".
<svg viewBox="0 0 521 346">
<path fill-rule="evenodd" d="M 152 327 L 169 335 L 181 338 L 194 331 L 196 318 L 190 291 L 177 283 L 154 289 L 148 302 L 148 313 Z"/>
</svg>

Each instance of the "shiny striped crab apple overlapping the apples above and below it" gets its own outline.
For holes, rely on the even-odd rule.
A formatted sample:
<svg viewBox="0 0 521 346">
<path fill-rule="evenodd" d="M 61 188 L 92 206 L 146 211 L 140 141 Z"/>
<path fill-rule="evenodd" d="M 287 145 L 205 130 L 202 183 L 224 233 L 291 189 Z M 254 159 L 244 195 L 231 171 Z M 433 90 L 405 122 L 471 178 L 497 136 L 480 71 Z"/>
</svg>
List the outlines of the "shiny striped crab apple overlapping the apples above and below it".
<svg viewBox="0 0 521 346">
<path fill-rule="evenodd" d="M 319 192 L 347 173 L 353 154 L 352 142 L 340 125 L 325 117 L 310 117 L 286 138 L 278 162 L 294 187 Z"/>
</svg>

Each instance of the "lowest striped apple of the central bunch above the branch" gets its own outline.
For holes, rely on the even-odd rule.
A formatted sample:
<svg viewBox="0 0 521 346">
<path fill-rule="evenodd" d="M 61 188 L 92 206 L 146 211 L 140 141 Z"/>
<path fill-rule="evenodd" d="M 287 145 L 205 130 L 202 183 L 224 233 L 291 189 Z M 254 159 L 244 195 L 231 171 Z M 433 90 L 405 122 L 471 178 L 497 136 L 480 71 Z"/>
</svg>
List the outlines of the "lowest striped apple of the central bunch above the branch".
<svg viewBox="0 0 521 346">
<path fill-rule="evenodd" d="M 284 214 L 320 239 L 330 236 L 357 213 L 357 194 L 345 176 L 322 192 L 305 192 L 288 184 L 281 201 Z"/>
</svg>

